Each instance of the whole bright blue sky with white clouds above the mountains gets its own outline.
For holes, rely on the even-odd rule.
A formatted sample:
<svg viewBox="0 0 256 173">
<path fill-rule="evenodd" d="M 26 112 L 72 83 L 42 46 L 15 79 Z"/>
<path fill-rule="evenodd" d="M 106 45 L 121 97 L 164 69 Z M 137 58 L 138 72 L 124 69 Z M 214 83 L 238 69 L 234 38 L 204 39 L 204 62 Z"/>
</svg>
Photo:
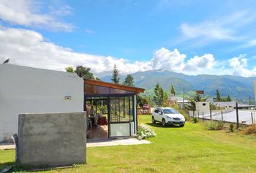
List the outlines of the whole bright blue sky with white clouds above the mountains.
<svg viewBox="0 0 256 173">
<path fill-rule="evenodd" d="M 256 76 L 255 1 L 0 1 L 0 60 Z"/>
</svg>

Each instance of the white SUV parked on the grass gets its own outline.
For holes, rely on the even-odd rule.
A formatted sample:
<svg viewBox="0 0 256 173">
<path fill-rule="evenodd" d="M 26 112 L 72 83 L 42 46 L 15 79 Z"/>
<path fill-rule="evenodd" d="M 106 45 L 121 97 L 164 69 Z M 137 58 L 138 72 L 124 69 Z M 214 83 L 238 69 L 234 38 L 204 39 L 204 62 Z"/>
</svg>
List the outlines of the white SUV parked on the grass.
<svg viewBox="0 0 256 173">
<path fill-rule="evenodd" d="M 185 118 L 171 107 L 156 107 L 152 113 L 152 123 L 155 124 L 155 122 L 162 123 L 163 127 L 167 124 L 178 124 L 180 127 L 184 127 Z"/>
</svg>

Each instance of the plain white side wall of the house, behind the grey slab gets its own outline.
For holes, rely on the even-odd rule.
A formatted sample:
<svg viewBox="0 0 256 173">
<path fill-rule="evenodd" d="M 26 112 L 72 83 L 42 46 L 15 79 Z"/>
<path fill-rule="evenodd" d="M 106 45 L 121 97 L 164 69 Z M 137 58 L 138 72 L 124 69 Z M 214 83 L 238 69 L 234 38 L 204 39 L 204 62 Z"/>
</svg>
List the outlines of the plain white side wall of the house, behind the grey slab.
<svg viewBox="0 0 256 173">
<path fill-rule="evenodd" d="M 82 112 L 83 95 L 77 74 L 0 64 L 0 142 L 17 133 L 19 114 Z"/>
</svg>

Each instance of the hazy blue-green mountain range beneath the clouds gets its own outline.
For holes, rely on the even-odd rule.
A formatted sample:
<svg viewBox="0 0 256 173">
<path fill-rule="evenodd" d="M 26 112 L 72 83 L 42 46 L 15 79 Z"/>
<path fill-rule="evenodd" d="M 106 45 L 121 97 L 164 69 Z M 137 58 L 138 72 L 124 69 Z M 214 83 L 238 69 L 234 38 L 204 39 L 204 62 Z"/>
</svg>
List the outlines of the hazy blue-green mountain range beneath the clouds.
<svg viewBox="0 0 256 173">
<path fill-rule="evenodd" d="M 205 96 L 216 97 L 216 89 L 221 92 L 222 97 L 231 95 L 233 99 L 248 102 L 249 97 L 254 100 L 254 81 L 256 77 L 242 77 L 233 75 L 209 75 L 201 74 L 189 76 L 172 71 L 142 71 L 132 74 L 135 86 L 146 89 L 144 95 L 153 95 L 155 84 L 159 83 L 166 92 L 170 92 L 171 84 L 174 85 L 176 95 L 182 96 L 183 88 L 185 94 L 195 94 L 196 90 L 204 90 Z M 125 76 L 120 76 L 124 81 Z M 111 81 L 111 76 L 101 77 L 102 81 Z"/>
</svg>

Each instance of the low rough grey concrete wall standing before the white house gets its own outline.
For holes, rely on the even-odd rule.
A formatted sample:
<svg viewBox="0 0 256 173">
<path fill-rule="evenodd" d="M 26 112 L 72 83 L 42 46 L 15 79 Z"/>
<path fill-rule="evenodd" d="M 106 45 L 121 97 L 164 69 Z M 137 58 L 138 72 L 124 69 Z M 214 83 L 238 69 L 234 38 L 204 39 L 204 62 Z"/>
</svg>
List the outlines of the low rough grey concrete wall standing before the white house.
<svg viewBox="0 0 256 173">
<path fill-rule="evenodd" d="M 84 112 L 19 115 L 19 164 L 61 167 L 86 162 Z"/>
</svg>

